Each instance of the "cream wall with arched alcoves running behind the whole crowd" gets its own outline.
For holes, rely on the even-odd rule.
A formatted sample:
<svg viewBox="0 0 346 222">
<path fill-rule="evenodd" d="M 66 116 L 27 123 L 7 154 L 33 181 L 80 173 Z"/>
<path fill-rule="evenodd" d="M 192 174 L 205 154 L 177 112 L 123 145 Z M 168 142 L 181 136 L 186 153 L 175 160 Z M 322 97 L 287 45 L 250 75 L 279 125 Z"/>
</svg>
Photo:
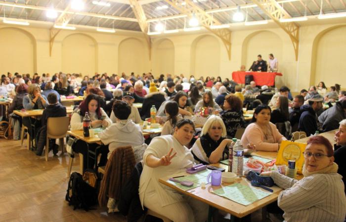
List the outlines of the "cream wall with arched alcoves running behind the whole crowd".
<svg viewBox="0 0 346 222">
<path fill-rule="evenodd" d="M 80 67 L 78 70 L 88 74 L 152 71 L 155 76 L 172 72 L 185 76 L 195 74 L 196 77 L 211 75 L 215 71 L 215 76 L 231 78 L 231 73 L 242 64 L 246 63 L 249 68 L 257 54 L 262 54 L 267 60 L 267 54 L 273 53 L 279 60 L 279 71 L 283 73 L 283 76 L 276 77 L 278 86 L 286 84 L 292 91 L 299 91 L 323 80 L 327 85 L 340 82 L 345 88 L 345 78 L 341 77 L 346 72 L 342 62 L 346 47 L 345 26 L 346 23 L 339 22 L 301 27 L 299 59 L 296 61 L 289 36 L 280 28 L 265 26 L 233 31 L 231 60 L 228 60 L 220 38 L 209 32 L 152 36 L 152 59 L 149 60 L 147 44 L 141 33 L 100 34 L 62 30 L 55 38 L 49 56 L 48 29 L 18 26 L 8 29 L 8 26 L 0 25 L 0 48 L 5 51 L 1 53 L 0 71 L 55 73 Z M 71 34 L 83 37 L 72 39 L 74 35 Z M 94 42 L 95 51 L 90 57 L 87 54 L 93 51 L 91 42 Z M 67 43 L 69 46 L 66 48 Z M 74 54 L 78 58 L 71 58 L 72 47 L 80 52 Z M 81 53 L 85 47 L 89 47 L 87 53 Z M 68 61 L 76 59 L 77 64 L 67 63 L 64 60 L 66 54 L 70 56 Z M 168 59 L 163 60 L 163 57 Z M 85 65 L 81 67 L 83 63 Z"/>
</svg>

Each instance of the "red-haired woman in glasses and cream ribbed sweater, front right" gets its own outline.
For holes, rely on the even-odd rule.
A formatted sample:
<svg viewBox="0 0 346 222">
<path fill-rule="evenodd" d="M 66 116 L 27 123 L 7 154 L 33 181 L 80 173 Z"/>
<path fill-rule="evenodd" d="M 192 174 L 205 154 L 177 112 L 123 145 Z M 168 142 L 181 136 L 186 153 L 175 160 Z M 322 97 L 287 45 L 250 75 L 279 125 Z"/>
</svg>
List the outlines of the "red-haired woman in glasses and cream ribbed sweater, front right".
<svg viewBox="0 0 346 222">
<path fill-rule="evenodd" d="M 346 197 L 342 176 L 334 162 L 333 147 L 322 136 L 311 137 L 303 152 L 304 178 L 291 179 L 276 171 L 263 172 L 285 189 L 278 206 L 285 212 L 285 222 L 344 222 Z"/>
</svg>

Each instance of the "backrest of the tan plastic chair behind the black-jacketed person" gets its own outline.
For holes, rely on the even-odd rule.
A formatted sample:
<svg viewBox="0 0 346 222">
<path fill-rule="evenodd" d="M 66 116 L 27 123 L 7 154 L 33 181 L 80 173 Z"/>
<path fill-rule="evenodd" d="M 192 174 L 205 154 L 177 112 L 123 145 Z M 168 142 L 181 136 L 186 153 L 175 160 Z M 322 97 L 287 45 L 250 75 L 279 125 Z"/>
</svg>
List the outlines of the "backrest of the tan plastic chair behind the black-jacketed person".
<svg viewBox="0 0 346 222">
<path fill-rule="evenodd" d="M 47 136 L 49 138 L 63 138 L 70 125 L 70 117 L 49 117 L 47 120 Z"/>
</svg>

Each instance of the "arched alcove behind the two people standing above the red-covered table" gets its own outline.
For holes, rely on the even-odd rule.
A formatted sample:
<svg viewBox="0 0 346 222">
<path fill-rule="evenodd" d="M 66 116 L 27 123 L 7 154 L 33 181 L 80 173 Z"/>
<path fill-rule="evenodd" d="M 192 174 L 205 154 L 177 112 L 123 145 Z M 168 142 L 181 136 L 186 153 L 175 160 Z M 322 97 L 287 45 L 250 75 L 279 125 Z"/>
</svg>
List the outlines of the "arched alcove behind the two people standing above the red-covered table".
<svg viewBox="0 0 346 222">
<path fill-rule="evenodd" d="M 273 32 L 258 31 L 247 36 L 242 45 L 242 64 L 249 69 L 257 56 L 268 62 L 268 55 L 272 53 L 279 61 L 279 71 L 284 73 L 285 64 L 282 60 L 282 40 Z"/>
</svg>

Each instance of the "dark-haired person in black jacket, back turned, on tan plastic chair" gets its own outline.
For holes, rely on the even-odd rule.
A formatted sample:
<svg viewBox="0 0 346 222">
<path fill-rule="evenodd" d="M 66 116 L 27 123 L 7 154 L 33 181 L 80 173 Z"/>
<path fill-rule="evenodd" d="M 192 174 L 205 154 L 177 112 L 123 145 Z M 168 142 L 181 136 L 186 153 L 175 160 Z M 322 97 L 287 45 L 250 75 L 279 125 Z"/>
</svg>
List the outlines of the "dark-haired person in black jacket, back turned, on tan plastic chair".
<svg viewBox="0 0 346 222">
<path fill-rule="evenodd" d="M 42 127 L 40 128 L 36 137 L 36 155 L 41 156 L 43 148 L 45 146 L 46 136 L 47 136 L 47 120 L 49 117 L 62 117 L 66 116 L 66 107 L 61 106 L 58 103 L 58 99 L 54 93 L 48 94 L 47 97 L 49 105 L 45 108 L 42 114 Z M 58 153 L 58 146 L 55 144 L 55 139 L 49 140 L 49 149 L 53 149 L 53 154 Z"/>
</svg>

